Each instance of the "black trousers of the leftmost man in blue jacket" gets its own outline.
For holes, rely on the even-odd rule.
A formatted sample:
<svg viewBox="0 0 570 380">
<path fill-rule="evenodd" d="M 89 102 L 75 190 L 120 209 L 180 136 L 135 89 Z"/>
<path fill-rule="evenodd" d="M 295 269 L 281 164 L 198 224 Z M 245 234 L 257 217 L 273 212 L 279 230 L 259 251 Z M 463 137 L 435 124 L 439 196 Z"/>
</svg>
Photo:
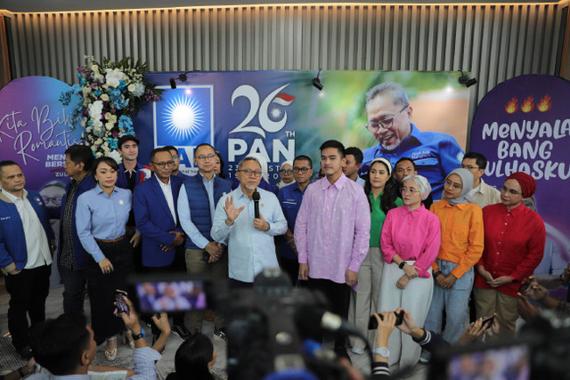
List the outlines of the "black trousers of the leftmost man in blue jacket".
<svg viewBox="0 0 570 380">
<path fill-rule="evenodd" d="M 50 291 L 50 274 L 52 265 L 42 265 L 6 276 L 6 291 L 10 295 L 8 329 L 16 350 L 20 351 L 29 344 L 28 316 L 32 327 L 45 320 L 45 298 Z"/>
</svg>

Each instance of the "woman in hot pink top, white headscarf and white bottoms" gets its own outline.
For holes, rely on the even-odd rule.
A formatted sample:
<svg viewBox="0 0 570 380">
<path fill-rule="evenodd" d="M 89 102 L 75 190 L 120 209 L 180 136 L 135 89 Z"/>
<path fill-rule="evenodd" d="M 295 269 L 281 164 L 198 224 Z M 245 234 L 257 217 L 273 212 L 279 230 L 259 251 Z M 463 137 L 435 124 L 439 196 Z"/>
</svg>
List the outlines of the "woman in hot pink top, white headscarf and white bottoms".
<svg viewBox="0 0 570 380">
<path fill-rule="evenodd" d="M 403 179 L 404 206 L 387 213 L 382 227 L 380 247 L 384 268 L 380 280 L 379 311 L 410 311 L 419 326 L 428 315 L 434 281 L 431 265 L 436 261 L 440 245 L 440 225 L 436 214 L 421 204 L 428 198 L 428 180 L 416 174 Z M 419 360 L 419 345 L 410 336 L 394 331 L 388 340 L 388 364 L 411 367 Z"/>
</svg>

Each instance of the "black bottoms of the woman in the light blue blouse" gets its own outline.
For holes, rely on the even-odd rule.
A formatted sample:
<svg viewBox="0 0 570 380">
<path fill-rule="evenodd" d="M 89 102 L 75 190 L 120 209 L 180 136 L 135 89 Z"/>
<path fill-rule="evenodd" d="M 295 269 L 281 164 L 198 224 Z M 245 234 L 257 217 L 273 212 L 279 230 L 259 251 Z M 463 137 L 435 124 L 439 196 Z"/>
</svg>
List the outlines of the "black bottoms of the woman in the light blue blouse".
<svg viewBox="0 0 570 380">
<path fill-rule="evenodd" d="M 113 264 L 113 271 L 104 274 L 93 256 L 87 257 L 87 287 L 91 302 L 91 327 L 97 344 L 125 329 L 123 319 L 115 316 L 115 290 L 126 290 L 126 278 L 133 271 L 133 253 L 128 240 L 97 242 L 103 255 Z"/>
</svg>

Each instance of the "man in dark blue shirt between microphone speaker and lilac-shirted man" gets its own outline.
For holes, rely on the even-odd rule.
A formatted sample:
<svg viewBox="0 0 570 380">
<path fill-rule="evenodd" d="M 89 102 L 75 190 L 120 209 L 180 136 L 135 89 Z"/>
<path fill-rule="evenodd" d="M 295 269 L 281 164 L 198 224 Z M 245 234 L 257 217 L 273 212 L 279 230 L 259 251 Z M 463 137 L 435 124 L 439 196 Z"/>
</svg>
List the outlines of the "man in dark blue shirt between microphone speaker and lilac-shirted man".
<svg viewBox="0 0 570 380">
<path fill-rule="evenodd" d="M 287 232 L 279 238 L 281 256 L 281 269 L 289 275 L 291 284 L 295 285 L 299 274 L 299 263 L 297 256 L 297 247 L 295 247 L 295 239 L 293 231 L 295 230 L 295 220 L 303 195 L 305 195 L 306 187 L 311 182 L 313 176 L 313 161 L 308 156 L 297 156 L 293 161 L 293 178 L 295 182 L 285 186 L 279 190 L 277 198 L 281 204 L 281 209 L 287 219 Z"/>
</svg>

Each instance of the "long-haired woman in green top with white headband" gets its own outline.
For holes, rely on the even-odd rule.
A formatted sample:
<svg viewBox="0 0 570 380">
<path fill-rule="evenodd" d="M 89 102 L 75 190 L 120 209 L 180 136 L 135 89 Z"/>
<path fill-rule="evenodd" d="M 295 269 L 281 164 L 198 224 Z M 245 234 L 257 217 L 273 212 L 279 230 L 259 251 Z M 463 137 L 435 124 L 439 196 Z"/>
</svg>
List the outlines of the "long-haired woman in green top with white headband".
<svg viewBox="0 0 570 380">
<path fill-rule="evenodd" d="M 373 347 L 373 330 L 368 329 L 368 319 L 378 311 L 380 275 L 384 261 L 380 252 L 380 233 L 388 210 L 403 206 L 403 200 L 398 198 L 397 184 L 392 175 L 392 166 L 386 158 L 376 158 L 371 162 L 369 174 L 366 176 L 364 192 L 371 205 L 371 241 L 368 255 L 358 271 L 357 290 L 350 297 L 348 318 L 355 327 L 368 337 Z M 362 354 L 364 342 L 351 339 L 352 352 Z"/>
</svg>

